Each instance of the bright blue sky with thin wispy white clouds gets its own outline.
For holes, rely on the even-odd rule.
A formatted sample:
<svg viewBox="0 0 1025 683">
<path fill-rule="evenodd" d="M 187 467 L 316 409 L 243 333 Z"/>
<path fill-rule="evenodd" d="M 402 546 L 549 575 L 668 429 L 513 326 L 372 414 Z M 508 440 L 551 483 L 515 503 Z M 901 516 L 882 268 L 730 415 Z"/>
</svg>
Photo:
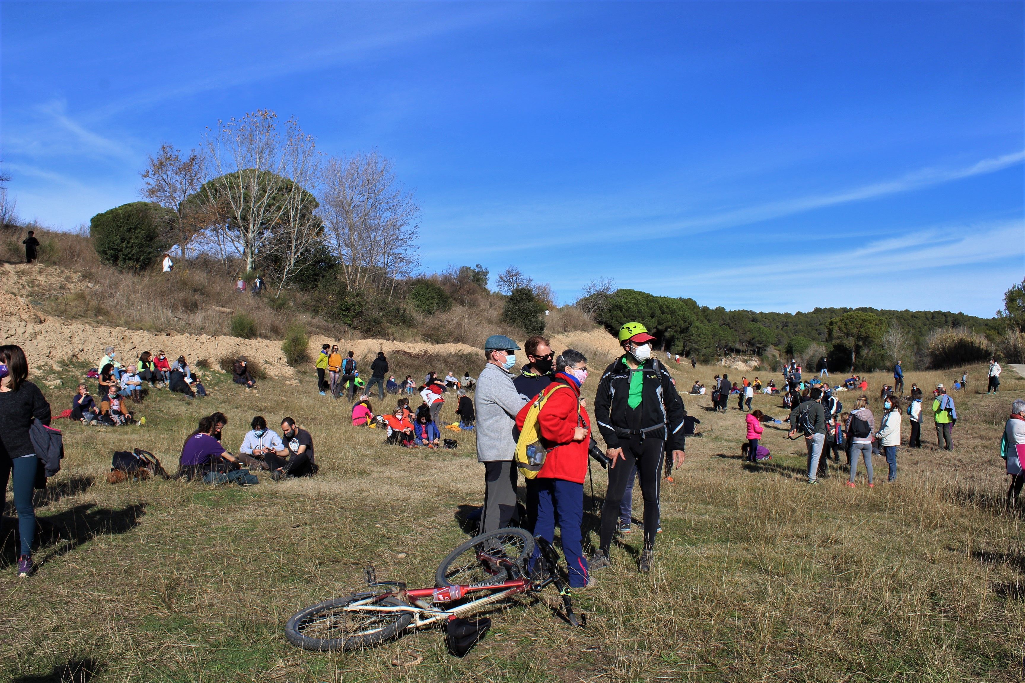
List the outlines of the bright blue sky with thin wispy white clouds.
<svg viewBox="0 0 1025 683">
<path fill-rule="evenodd" d="M 394 160 L 427 270 L 991 315 L 1025 275 L 1023 7 L 5 0 L 0 142 L 19 215 L 73 229 L 271 109 Z"/>
</svg>

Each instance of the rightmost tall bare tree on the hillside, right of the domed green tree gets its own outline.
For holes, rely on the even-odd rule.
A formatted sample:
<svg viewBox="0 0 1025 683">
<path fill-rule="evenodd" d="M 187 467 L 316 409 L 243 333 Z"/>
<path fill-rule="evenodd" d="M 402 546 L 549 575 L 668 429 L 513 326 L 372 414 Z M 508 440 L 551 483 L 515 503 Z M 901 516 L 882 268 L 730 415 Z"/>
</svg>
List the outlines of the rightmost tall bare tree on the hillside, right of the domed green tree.
<svg viewBox="0 0 1025 683">
<path fill-rule="evenodd" d="M 418 213 L 392 163 L 376 153 L 327 164 L 320 215 L 348 289 L 387 289 L 391 296 L 396 281 L 416 270 Z"/>
</svg>

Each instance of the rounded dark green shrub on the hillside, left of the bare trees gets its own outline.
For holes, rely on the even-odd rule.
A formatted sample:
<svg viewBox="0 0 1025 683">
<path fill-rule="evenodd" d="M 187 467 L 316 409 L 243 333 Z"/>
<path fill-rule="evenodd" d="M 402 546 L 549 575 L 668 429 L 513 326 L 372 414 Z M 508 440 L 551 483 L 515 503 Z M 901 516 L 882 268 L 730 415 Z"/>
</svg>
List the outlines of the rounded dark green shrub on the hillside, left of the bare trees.
<svg viewBox="0 0 1025 683">
<path fill-rule="evenodd" d="M 105 262 L 126 270 L 150 267 L 169 246 L 164 239 L 167 210 L 132 202 L 97 213 L 89 221 L 93 249 Z"/>
</svg>

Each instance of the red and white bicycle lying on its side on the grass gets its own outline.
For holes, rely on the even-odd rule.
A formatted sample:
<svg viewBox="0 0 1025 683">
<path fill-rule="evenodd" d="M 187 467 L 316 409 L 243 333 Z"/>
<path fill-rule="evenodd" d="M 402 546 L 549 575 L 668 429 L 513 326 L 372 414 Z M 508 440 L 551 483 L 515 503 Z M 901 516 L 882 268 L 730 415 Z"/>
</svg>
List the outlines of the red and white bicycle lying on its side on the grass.
<svg viewBox="0 0 1025 683">
<path fill-rule="evenodd" d="M 543 568 L 530 571 L 535 545 L 540 548 Z M 403 582 L 379 582 L 370 567 L 367 590 L 306 607 L 288 620 L 285 636 L 308 650 L 371 647 L 399 637 L 407 629 L 454 623 L 506 598 L 536 593 L 550 585 L 562 596 L 566 620 L 580 626 L 573 613 L 568 574 L 559 560 L 551 544 L 523 529 L 489 531 L 442 560 L 435 588 L 409 590 Z"/>
</svg>

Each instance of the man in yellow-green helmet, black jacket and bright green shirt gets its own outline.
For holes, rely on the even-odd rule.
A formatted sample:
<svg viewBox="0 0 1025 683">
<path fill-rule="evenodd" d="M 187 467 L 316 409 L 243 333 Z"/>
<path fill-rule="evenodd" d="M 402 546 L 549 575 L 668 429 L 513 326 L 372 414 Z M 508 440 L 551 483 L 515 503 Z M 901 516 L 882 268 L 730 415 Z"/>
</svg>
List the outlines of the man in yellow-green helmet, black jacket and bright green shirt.
<svg viewBox="0 0 1025 683">
<path fill-rule="evenodd" d="M 684 464 L 684 400 L 672 377 L 651 357 L 655 338 L 640 323 L 619 329 L 623 354 L 602 375 L 594 397 L 598 422 L 609 457 L 609 487 L 602 505 L 599 550 L 590 568 L 610 566 L 609 549 L 622 512 L 628 477 L 637 467 L 644 496 L 644 550 L 639 568 L 651 571 L 660 517 L 659 483 L 670 443 L 673 466 Z"/>
</svg>

